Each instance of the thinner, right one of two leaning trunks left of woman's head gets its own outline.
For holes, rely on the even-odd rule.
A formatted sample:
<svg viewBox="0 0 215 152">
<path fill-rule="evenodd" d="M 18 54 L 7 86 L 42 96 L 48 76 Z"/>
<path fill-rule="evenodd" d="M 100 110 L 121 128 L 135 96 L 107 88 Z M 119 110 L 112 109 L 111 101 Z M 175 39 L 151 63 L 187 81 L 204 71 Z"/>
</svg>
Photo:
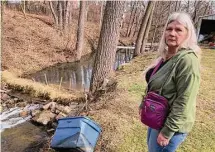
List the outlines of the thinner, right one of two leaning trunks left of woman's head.
<svg viewBox="0 0 215 152">
<path fill-rule="evenodd" d="M 153 12 L 154 12 L 154 8 L 155 8 L 155 3 L 153 4 L 153 7 L 152 7 L 152 10 L 151 10 L 151 13 L 150 13 L 150 17 L 149 17 L 149 20 L 148 20 L 148 23 L 147 23 L 146 31 L 144 33 L 143 42 L 142 42 L 142 46 L 141 46 L 141 54 L 145 51 L 145 47 L 146 47 L 146 43 L 147 43 L 147 39 L 148 39 L 148 35 L 149 35 L 149 30 L 150 30 L 151 24 L 152 24 L 152 18 L 153 18 Z"/>
</svg>

